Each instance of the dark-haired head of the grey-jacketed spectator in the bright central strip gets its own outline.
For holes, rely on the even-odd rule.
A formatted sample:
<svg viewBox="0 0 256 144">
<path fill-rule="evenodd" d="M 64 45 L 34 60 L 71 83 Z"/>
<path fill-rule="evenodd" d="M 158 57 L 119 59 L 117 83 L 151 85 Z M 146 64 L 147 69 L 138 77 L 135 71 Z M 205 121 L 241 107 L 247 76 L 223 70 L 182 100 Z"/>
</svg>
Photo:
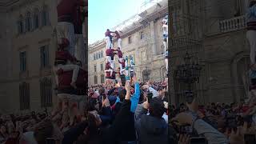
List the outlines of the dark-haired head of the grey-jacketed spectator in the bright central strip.
<svg viewBox="0 0 256 144">
<path fill-rule="evenodd" d="M 150 115 L 156 118 L 162 118 L 165 112 L 165 106 L 158 98 L 152 98 L 150 102 Z"/>
</svg>

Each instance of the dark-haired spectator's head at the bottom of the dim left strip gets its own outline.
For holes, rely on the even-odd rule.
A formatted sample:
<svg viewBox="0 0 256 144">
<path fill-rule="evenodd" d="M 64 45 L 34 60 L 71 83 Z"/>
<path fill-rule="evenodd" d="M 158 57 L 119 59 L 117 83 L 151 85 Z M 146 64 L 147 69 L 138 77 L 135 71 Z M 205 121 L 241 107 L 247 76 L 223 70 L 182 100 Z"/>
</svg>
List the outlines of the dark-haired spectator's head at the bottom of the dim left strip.
<svg viewBox="0 0 256 144">
<path fill-rule="evenodd" d="M 46 138 L 51 138 L 54 132 L 54 125 L 50 120 L 39 122 L 34 129 L 34 138 L 38 144 L 46 143 Z"/>
</svg>

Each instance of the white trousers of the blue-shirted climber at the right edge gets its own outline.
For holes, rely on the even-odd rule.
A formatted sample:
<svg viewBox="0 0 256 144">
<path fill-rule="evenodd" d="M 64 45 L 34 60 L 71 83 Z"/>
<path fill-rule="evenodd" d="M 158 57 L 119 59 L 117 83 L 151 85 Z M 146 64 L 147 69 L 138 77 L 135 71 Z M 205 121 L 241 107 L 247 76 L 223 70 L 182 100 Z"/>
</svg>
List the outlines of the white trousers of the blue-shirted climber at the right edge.
<svg viewBox="0 0 256 144">
<path fill-rule="evenodd" d="M 250 62 L 255 63 L 255 53 L 256 53 L 256 30 L 248 30 L 246 33 L 246 38 L 250 43 Z"/>
</svg>

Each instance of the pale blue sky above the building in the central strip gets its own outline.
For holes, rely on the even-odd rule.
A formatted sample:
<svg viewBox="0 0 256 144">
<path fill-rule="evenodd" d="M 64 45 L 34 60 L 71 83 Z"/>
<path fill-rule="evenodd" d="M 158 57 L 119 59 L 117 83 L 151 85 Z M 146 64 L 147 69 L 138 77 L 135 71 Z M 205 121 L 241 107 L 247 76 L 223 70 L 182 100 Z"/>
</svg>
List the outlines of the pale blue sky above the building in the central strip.
<svg viewBox="0 0 256 144">
<path fill-rule="evenodd" d="M 105 37 L 106 29 L 138 14 L 145 0 L 89 0 L 88 41 L 89 44 Z"/>
</svg>

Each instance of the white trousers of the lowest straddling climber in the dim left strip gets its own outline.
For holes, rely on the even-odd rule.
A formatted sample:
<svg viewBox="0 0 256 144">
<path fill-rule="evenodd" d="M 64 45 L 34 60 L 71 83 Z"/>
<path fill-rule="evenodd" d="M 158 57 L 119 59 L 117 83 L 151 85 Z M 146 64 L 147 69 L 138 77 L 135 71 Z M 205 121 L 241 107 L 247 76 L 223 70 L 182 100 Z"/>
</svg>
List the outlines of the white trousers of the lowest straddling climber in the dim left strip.
<svg viewBox="0 0 256 144">
<path fill-rule="evenodd" d="M 70 71 L 70 70 L 73 70 L 73 74 L 72 74 L 72 80 L 71 80 L 71 83 L 74 83 L 77 81 L 77 78 L 78 78 L 78 72 L 79 72 L 79 66 L 78 65 L 71 65 L 71 64 L 68 64 L 68 65 L 58 65 L 55 67 L 55 73 L 59 70 L 59 69 L 62 69 L 63 71 Z M 56 79 L 56 83 L 58 84 L 58 76 Z"/>
</svg>

